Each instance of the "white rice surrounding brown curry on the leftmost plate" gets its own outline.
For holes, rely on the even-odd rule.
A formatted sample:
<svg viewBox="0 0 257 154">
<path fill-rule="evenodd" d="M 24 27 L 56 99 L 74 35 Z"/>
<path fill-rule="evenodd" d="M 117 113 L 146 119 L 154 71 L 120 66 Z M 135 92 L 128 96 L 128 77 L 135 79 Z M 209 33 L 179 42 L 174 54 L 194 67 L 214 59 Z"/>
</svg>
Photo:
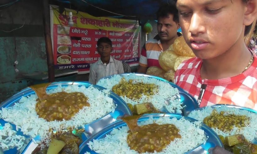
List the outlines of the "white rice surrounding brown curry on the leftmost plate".
<svg viewBox="0 0 257 154">
<path fill-rule="evenodd" d="M 15 103 L 12 107 L 2 108 L 0 110 L 0 118 L 15 124 L 17 128 L 21 128 L 25 135 L 30 135 L 32 138 L 39 135 L 41 142 L 44 141 L 48 145 L 52 134 L 52 131 L 49 130 L 60 132 L 68 128 L 77 128 L 101 118 L 107 113 L 114 112 L 115 106 L 112 98 L 108 96 L 109 90 L 99 91 L 93 86 L 86 88 L 85 86 L 79 87 L 78 85 L 69 85 L 67 87 L 59 85 L 57 88 L 47 91 L 47 94 L 61 91 L 84 93 L 88 97 L 90 107 L 80 109 L 70 120 L 63 119 L 63 121 L 55 120 L 48 122 L 38 117 L 35 110 L 38 97 L 36 94 L 33 94 L 22 97 L 19 103 Z M 5 145 L 0 145 L 0 147 L 4 148 Z"/>
</svg>

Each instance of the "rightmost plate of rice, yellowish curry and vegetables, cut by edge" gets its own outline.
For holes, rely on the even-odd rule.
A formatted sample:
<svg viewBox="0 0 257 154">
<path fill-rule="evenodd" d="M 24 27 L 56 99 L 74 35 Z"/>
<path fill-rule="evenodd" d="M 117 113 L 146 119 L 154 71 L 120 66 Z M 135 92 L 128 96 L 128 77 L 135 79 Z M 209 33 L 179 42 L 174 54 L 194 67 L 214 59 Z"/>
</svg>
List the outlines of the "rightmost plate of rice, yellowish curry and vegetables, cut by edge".
<svg viewBox="0 0 257 154">
<path fill-rule="evenodd" d="M 225 149 L 235 154 L 257 153 L 257 111 L 233 105 L 214 105 L 193 110 L 197 119 L 219 135 Z"/>
</svg>

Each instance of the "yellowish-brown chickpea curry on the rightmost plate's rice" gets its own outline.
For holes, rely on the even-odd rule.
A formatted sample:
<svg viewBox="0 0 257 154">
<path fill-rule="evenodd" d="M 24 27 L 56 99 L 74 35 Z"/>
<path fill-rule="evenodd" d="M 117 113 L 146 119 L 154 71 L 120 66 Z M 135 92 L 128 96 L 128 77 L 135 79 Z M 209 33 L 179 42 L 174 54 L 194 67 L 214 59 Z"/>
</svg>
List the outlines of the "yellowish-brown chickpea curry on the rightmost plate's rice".
<svg viewBox="0 0 257 154">
<path fill-rule="evenodd" d="M 218 113 L 215 109 L 211 115 L 204 118 L 204 124 L 211 128 L 217 128 L 224 132 L 230 131 L 233 127 L 246 127 L 249 117 L 245 115 L 225 114 L 224 111 Z"/>
</svg>

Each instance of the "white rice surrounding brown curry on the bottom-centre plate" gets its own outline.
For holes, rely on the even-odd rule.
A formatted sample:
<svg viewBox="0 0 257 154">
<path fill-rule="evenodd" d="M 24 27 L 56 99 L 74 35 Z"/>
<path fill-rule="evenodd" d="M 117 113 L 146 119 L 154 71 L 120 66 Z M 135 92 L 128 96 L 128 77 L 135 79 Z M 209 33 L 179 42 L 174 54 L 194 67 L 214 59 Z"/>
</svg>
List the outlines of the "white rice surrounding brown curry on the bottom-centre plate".
<svg viewBox="0 0 257 154">
<path fill-rule="evenodd" d="M 207 140 L 204 131 L 199 128 L 200 122 L 191 123 L 184 118 L 178 120 L 177 118 L 170 119 L 168 117 L 161 117 L 154 120 L 150 117 L 148 120 L 140 122 L 139 126 L 153 123 L 174 124 L 180 130 L 179 134 L 181 135 L 181 139 L 176 138 L 161 152 L 154 153 L 182 154 L 205 143 Z M 137 151 L 130 150 L 127 144 L 128 130 L 129 128 L 127 126 L 113 129 L 110 135 L 100 140 L 90 141 L 88 146 L 99 154 L 138 154 Z M 148 152 L 145 152 L 145 154 L 147 153 Z"/>
</svg>

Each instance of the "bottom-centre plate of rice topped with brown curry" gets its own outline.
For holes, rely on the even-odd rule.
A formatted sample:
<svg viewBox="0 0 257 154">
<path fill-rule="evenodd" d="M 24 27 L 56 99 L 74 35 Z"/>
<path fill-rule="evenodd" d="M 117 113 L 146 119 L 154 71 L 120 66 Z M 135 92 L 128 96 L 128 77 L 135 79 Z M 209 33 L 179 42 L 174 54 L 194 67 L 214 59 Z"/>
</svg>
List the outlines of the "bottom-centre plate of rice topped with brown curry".
<svg viewBox="0 0 257 154">
<path fill-rule="evenodd" d="M 123 117 L 79 148 L 81 154 L 207 153 L 221 146 L 216 133 L 205 124 L 178 114 L 145 114 Z"/>
</svg>

